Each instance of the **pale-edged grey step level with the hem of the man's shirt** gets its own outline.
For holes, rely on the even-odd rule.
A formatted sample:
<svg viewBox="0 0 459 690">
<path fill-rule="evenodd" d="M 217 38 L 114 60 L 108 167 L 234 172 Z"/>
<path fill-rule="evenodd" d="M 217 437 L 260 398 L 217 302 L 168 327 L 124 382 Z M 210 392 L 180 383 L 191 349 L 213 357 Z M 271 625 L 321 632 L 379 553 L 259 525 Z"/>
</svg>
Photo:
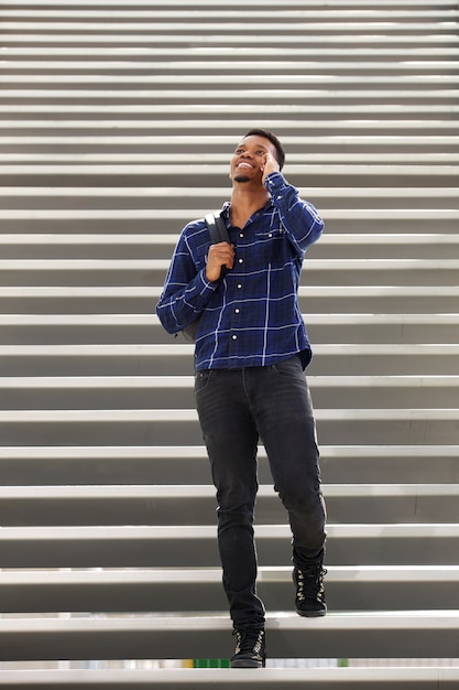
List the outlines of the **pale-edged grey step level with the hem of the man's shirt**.
<svg viewBox="0 0 459 690">
<path fill-rule="evenodd" d="M 171 346 L 173 345 L 173 347 Z M 163 344 L 61 344 L 0 346 L 2 376 L 152 376 L 193 374 L 193 346 Z M 317 344 L 309 376 L 459 375 L 459 345 Z M 128 444 L 129 445 L 129 444 Z"/>
</svg>

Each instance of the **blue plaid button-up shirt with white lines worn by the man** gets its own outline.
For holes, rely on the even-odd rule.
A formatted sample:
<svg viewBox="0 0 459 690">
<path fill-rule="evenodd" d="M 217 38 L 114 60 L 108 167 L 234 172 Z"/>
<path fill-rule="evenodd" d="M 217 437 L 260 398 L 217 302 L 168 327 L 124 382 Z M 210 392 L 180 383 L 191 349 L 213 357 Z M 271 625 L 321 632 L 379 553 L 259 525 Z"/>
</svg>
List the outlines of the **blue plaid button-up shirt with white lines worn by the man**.
<svg viewBox="0 0 459 690">
<path fill-rule="evenodd" d="M 265 180 L 271 198 L 244 228 L 229 225 L 230 204 L 221 211 L 236 259 L 217 282 L 206 279 L 210 236 L 204 219 L 182 231 L 156 305 L 168 333 L 178 333 L 200 316 L 196 369 L 267 366 L 312 352 L 297 291 L 307 247 L 321 235 L 316 208 L 278 173 Z"/>
</svg>

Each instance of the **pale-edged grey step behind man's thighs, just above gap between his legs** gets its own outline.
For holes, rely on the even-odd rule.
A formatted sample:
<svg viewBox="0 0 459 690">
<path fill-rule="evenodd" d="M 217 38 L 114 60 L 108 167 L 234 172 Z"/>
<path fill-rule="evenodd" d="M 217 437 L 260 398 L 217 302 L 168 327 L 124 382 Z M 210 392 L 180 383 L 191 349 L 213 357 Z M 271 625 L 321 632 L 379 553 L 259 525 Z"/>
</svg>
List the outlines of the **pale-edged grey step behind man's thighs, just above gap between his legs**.
<svg viewBox="0 0 459 690">
<path fill-rule="evenodd" d="M 318 409 L 320 442 L 441 444 L 457 439 L 459 409 Z M 2 445 L 168 445 L 201 443 L 195 410 L 0 411 Z"/>
</svg>

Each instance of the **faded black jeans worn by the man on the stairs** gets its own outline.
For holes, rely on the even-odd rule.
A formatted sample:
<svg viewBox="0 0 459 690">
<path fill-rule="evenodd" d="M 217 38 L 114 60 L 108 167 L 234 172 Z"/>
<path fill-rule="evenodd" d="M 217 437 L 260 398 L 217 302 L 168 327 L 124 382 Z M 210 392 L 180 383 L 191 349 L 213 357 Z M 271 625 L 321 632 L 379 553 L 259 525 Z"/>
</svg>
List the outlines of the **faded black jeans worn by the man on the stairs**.
<svg viewBox="0 0 459 690">
<path fill-rule="evenodd" d="M 294 564 L 324 560 L 326 510 L 309 389 L 299 358 L 293 357 L 267 367 L 197 371 L 195 397 L 217 488 L 218 546 L 230 615 L 239 629 L 263 627 L 252 527 L 259 439 L 288 514 Z"/>
</svg>

